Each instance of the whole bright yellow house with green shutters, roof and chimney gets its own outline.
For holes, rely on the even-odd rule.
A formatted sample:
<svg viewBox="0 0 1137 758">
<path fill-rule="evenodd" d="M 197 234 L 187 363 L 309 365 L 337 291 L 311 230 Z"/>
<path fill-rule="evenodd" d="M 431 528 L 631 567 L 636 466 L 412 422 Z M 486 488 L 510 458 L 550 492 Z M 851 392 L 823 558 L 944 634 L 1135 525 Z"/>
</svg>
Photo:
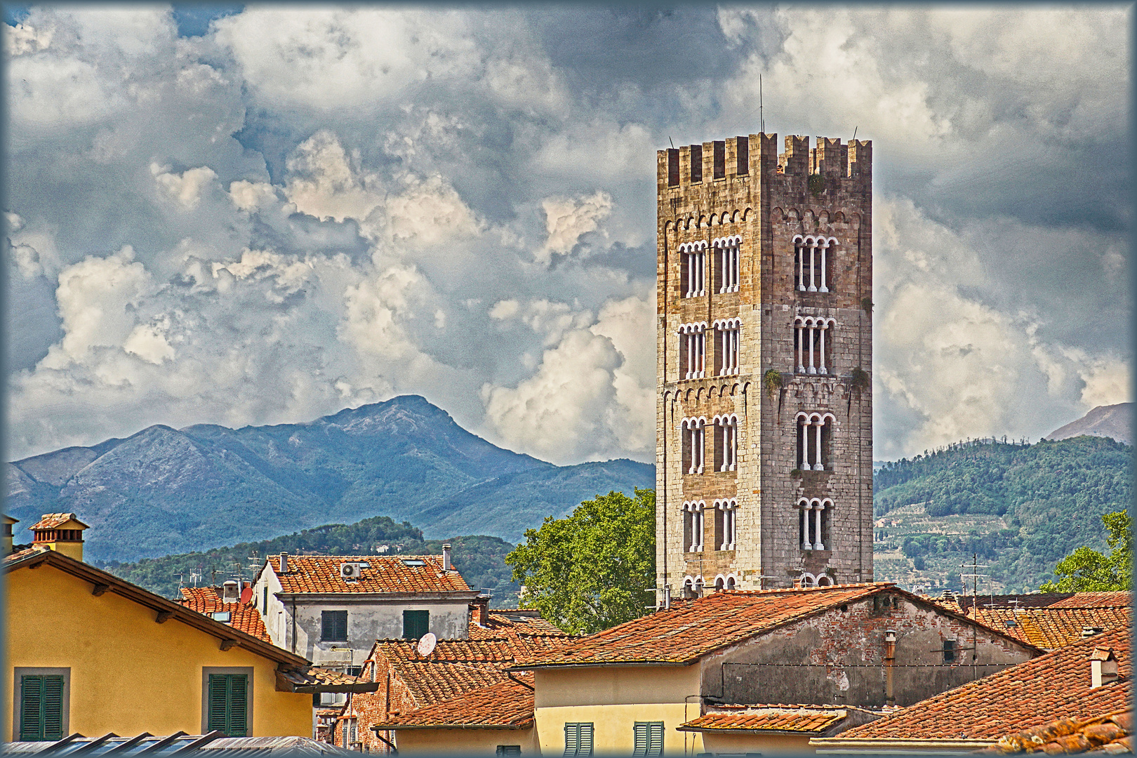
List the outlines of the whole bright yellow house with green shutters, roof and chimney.
<svg viewBox="0 0 1137 758">
<path fill-rule="evenodd" d="M 64 536 L 3 559 L 5 740 L 312 736 L 312 692 L 365 686 L 90 566 Z"/>
</svg>

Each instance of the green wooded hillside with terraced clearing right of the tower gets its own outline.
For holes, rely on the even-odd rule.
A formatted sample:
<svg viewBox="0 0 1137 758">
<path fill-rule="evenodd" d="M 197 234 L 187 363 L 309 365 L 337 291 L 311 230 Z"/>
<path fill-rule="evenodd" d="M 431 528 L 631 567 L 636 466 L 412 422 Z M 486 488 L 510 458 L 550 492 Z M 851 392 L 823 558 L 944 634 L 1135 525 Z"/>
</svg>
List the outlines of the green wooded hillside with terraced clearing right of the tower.
<svg viewBox="0 0 1137 758">
<path fill-rule="evenodd" d="M 890 542 L 924 570 L 979 553 L 994 582 L 1037 589 L 1076 548 L 1104 549 L 1101 516 L 1128 508 L 1131 455 L 1129 445 L 1094 436 L 986 440 L 886 464 L 873 480 L 878 555 Z M 913 519 L 924 516 L 923 533 L 914 533 Z M 877 563 L 878 578 L 902 581 L 899 566 Z"/>
</svg>

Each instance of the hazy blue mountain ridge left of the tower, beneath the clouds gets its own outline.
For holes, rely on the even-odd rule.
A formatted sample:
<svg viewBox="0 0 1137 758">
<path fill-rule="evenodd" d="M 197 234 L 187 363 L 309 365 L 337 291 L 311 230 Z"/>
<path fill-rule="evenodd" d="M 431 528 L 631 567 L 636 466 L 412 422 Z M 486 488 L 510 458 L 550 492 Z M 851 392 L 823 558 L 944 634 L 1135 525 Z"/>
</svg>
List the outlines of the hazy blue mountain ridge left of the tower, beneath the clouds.
<svg viewBox="0 0 1137 758">
<path fill-rule="evenodd" d="M 517 541 L 599 492 L 655 483 L 655 467 L 632 460 L 555 466 L 505 450 L 420 395 L 306 424 L 156 425 L 6 466 L 17 530 L 75 511 L 92 527 L 86 555 L 119 561 L 371 516 L 410 520 L 426 539 Z"/>
</svg>

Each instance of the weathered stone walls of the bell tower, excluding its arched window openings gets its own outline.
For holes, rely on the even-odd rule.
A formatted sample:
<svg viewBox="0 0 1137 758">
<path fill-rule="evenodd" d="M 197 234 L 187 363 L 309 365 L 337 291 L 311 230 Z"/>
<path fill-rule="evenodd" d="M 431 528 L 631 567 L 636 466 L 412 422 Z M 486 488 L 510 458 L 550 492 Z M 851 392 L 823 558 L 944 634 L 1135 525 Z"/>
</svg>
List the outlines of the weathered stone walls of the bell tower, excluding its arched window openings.
<svg viewBox="0 0 1137 758">
<path fill-rule="evenodd" d="M 748 156 L 739 166 L 741 143 Z M 871 143 L 841 145 L 824 140 L 808 150 L 807 138 L 752 134 L 724 141 L 722 176 L 715 177 L 715 143 L 702 145 L 702 178 L 694 181 L 691 147 L 657 155 L 657 405 L 656 491 L 658 584 L 681 590 L 686 576 L 713 585 L 733 576 L 740 589 L 786 586 L 803 572 L 838 583 L 872 578 L 872 395 L 854 386 L 860 368 L 871 376 L 872 172 Z M 697 153 L 697 151 L 696 151 Z M 678 183 L 673 163 L 678 160 Z M 739 169 L 742 170 L 739 170 Z M 823 180 L 812 180 L 810 172 Z M 830 263 L 832 292 L 797 292 L 792 282 L 794 235 L 825 233 L 838 240 Z M 741 236 L 739 291 L 717 290 L 719 259 L 707 250 L 706 294 L 684 297 L 683 243 Z M 795 316 L 830 316 L 828 375 L 795 375 Z M 687 380 L 680 375 L 681 324 L 739 318 L 739 366 L 733 376 Z M 707 339 L 706 365 L 716 364 L 719 344 Z M 827 335 L 828 338 L 828 335 Z M 767 394 L 767 369 L 783 376 L 780 392 Z M 827 472 L 794 476 L 799 410 L 831 413 Z M 738 466 L 711 472 L 714 428 L 706 433 L 707 468 L 682 467 L 680 423 L 684 417 L 739 418 Z M 798 497 L 831 498 L 830 542 L 803 551 L 798 539 Z M 732 551 L 716 551 L 711 531 L 715 499 L 736 498 L 737 539 Z M 682 503 L 705 501 L 707 538 L 703 552 L 684 552 Z"/>
</svg>

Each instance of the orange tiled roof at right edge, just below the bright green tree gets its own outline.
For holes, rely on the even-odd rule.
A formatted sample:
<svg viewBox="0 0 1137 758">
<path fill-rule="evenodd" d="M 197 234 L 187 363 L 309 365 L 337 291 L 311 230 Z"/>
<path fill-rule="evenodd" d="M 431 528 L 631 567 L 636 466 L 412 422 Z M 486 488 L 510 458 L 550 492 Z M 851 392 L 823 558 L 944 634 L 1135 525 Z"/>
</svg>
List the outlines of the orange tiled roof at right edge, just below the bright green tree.
<svg viewBox="0 0 1137 758">
<path fill-rule="evenodd" d="M 1129 608 L 1098 606 L 1070 608 L 978 608 L 968 613 L 987 626 L 1029 642 L 1038 648 L 1053 650 L 1081 639 L 1084 626 L 1117 628 L 1129 624 Z"/>
</svg>

